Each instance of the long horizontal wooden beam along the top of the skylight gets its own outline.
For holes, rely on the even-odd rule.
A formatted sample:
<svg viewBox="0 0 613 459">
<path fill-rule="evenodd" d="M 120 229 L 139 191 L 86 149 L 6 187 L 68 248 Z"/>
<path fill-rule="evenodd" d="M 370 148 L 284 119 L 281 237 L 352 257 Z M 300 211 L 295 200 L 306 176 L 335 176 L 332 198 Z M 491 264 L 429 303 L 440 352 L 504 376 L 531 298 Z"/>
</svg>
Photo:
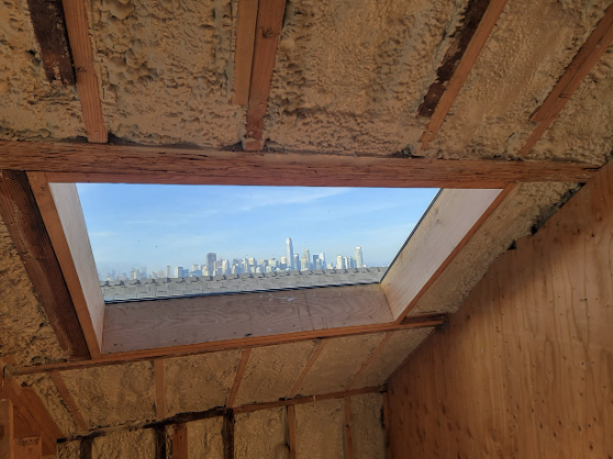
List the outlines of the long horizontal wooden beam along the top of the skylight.
<svg viewBox="0 0 613 459">
<path fill-rule="evenodd" d="M 599 167 L 550 160 L 254 155 L 219 149 L 0 141 L 0 169 L 45 171 L 49 182 L 503 188 L 531 181 L 586 182 Z"/>
</svg>

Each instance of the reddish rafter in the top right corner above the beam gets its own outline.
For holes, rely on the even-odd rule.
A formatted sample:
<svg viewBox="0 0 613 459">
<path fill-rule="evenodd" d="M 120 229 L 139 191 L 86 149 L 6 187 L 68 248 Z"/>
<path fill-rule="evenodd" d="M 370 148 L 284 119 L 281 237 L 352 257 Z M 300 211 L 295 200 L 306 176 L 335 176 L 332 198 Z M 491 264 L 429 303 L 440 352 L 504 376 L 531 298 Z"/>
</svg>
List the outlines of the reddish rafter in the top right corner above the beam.
<svg viewBox="0 0 613 459">
<path fill-rule="evenodd" d="M 519 156 L 530 154 L 611 43 L 613 43 L 613 4 L 609 5 L 604 16 L 549 92 L 549 96 L 531 116 L 531 121 L 539 124 L 519 152 Z"/>
</svg>

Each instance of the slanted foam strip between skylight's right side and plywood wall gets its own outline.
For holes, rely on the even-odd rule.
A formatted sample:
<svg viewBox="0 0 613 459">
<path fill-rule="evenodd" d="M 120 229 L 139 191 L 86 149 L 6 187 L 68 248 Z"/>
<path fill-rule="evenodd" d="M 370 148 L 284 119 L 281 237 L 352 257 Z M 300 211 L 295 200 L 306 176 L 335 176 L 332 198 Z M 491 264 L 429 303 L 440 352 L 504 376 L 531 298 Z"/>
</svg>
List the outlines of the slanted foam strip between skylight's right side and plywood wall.
<svg viewBox="0 0 613 459">
<path fill-rule="evenodd" d="M 570 183 L 523 183 L 516 187 L 424 293 L 409 315 L 456 312 L 493 260 L 513 240 L 531 233 L 564 202 Z"/>
</svg>

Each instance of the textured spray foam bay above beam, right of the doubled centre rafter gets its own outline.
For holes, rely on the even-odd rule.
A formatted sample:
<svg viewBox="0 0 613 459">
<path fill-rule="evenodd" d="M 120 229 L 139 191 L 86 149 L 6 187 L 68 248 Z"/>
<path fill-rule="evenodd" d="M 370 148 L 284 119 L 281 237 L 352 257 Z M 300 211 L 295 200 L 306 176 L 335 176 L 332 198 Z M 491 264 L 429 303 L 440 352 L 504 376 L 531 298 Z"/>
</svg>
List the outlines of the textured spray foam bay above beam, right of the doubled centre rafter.
<svg viewBox="0 0 613 459">
<path fill-rule="evenodd" d="M 391 154 L 416 142 L 417 108 L 466 1 L 289 0 L 265 136 L 294 150 Z"/>
</svg>

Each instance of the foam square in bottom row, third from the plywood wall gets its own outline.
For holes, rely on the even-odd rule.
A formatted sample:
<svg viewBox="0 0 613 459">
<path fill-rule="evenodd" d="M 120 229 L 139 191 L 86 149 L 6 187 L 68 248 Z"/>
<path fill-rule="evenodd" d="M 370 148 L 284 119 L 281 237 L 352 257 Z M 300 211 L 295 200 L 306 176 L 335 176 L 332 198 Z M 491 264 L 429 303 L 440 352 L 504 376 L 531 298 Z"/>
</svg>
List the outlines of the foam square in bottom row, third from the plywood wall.
<svg viewBox="0 0 613 459">
<path fill-rule="evenodd" d="M 290 459 L 285 407 L 238 414 L 235 422 L 236 459 Z"/>
</svg>

